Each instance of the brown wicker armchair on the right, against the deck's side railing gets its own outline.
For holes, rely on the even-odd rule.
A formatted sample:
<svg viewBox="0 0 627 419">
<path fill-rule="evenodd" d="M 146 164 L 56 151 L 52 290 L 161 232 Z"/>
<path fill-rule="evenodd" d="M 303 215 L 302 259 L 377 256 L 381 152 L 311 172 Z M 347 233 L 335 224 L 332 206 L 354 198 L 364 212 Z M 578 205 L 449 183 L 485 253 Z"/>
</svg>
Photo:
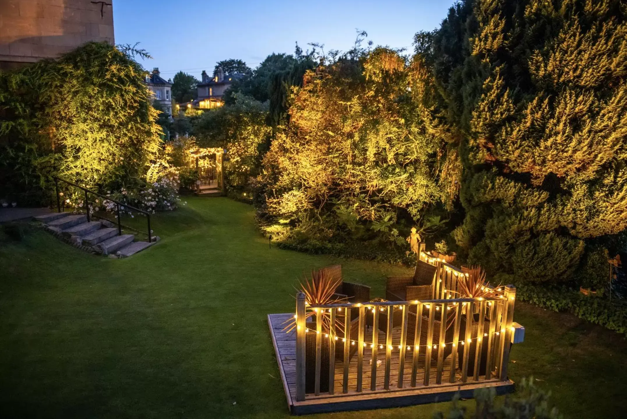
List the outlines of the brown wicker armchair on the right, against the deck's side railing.
<svg viewBox="0 0 627 419">
<path fill-rule="evenodd" d="M 413 276 L 387 277 L 386 299 L 390 301 L 430 300 L 436 267 L 418 261 Z"/>
</svg>

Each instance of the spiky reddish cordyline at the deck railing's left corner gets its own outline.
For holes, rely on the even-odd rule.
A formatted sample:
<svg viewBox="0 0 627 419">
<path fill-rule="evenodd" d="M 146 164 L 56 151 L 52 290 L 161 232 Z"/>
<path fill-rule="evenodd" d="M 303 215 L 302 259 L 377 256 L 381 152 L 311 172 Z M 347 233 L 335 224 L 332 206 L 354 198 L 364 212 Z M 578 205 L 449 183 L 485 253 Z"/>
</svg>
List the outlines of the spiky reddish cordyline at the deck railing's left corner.
<svg viewBox="0 0 627 419">
<path fill-rule="evenodd" d="M 324 304 L 337 304 L 341 302 L 345 302 L 346 298 L 338 298 L 334 297 L 335 290 L 342 282 L 341 278 L 337 278 L 334 275 L 330 275 L 324 269 L 320 270 L 312 270 L 311 277 L 305 277 L 304 282 L 300 282 L 300 289 L 297 288 L 298 291 L 302 291 L 305 294 L 305 302 L 308 305 L 324 305 Z M 314 310 L 305 310 L 305 322 L 310 317 L 314 317 L 316 312 Z M 283 328 L 283 330 L 288 333 L 291 332 L 294 327 L 296 327 L 296 318 L 292 317 L 285 321 L 288 323 L 287 326 Z M 328 310 L 322 312 L 322 331 L 329 332 L 331 325 L 331 314 Z M 335 327 L 342 330 L 344 324 L 336 318 Z"/>
</svg>

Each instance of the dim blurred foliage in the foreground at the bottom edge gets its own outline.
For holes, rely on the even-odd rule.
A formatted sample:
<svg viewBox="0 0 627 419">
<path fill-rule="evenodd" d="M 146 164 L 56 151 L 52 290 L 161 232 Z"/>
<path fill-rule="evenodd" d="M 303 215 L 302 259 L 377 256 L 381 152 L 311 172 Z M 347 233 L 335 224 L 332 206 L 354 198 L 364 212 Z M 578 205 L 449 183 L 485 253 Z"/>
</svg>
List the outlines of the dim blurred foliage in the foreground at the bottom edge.
<svg viewBox="0 0 627 419">
<path fill-rule="evenodd" d="M 534 378 L 523 378 L 515 395 L 505 396 L 503 403 L 496 401 L 494 388 L 478 388 L 475 390 L 475 414 L 469 415 L 465 406 L 461 406 L 459 393 L 453 398 L 453 406 L 446 413 L 438 412 L 434 419 L 560 419 L 562 416 L 557 408 L 549 406 L 551 393 L 540 390 L 534 385 Z"/>
</svg>

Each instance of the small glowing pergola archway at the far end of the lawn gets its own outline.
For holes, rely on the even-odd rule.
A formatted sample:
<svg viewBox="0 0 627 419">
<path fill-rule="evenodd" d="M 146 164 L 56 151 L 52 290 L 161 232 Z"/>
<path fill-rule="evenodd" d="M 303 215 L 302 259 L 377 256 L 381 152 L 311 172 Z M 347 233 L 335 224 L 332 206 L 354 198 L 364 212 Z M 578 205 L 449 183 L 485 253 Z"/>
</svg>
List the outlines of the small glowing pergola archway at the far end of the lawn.
<svg viewBox="0 0 627 419">
<path fill-rule="evenodd" d="M 198 195 L 224 195 L 224 150 L 221 147 L 198 147 L 189 151 L 196 161 L 199 179 L 196 181 Z"/>
</svg>

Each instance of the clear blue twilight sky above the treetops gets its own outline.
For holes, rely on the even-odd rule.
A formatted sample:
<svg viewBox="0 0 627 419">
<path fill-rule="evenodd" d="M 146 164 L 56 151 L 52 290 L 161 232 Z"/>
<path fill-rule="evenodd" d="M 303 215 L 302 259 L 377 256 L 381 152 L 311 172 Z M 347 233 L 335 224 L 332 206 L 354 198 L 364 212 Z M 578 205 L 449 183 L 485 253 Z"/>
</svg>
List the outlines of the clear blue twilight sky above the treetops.
<svg viewBox="0 0 627 419">
<path fill-rule="evenodd" d="M 454 0 L 113 0 L 115 43 L 144 48 L 164 78 L 179 70 L 200 78 L 216 61 L 240 58 L 255 68 L 269 54 L 293 53 L 295 42 L 348 50 L 356 28 L 374 45 L 408 48 L 414 33 L 431 30 Z"/>
</svg>

